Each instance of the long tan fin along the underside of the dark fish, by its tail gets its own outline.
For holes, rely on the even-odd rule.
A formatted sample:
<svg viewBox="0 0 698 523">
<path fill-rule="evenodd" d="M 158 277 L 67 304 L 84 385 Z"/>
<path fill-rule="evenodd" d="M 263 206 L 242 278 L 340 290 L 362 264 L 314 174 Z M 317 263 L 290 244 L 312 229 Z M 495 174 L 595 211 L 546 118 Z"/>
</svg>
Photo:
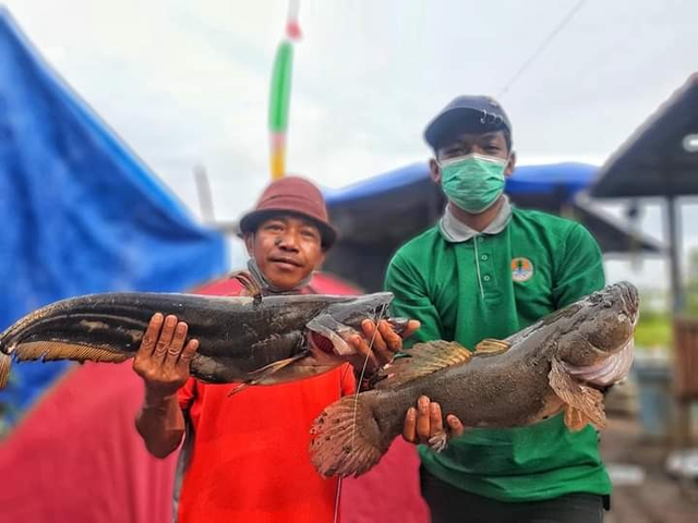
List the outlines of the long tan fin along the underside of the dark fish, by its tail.
<svg viewBox="0 0 698 523">
<path fill-rule="evenodd" d="M 112 363 L 124 362 L 133 355 L 116 352 L 104 346 L 81 345 L 77 343 L 51 340 L 20 343 L 12 354 L 14 358 L 20 362 L 32 360 L 43 360 L 45 362 L 72 360 L 74 362 L 91 361 Z"/>
</svg>

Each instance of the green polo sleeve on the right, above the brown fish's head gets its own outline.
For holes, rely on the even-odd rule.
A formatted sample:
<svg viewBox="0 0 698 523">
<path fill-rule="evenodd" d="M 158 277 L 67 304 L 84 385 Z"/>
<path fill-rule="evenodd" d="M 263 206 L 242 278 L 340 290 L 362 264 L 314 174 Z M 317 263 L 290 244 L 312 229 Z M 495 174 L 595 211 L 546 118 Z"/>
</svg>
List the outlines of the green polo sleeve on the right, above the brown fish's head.
<svg viewBox="0 0 698 523">
<path fill-rule="evenodd" d="M 555 308 L 562 308 L 605 285 L 601 248 L 591 233 L 575 223 L 565 239 L 553 285 Z"/>
</svg>

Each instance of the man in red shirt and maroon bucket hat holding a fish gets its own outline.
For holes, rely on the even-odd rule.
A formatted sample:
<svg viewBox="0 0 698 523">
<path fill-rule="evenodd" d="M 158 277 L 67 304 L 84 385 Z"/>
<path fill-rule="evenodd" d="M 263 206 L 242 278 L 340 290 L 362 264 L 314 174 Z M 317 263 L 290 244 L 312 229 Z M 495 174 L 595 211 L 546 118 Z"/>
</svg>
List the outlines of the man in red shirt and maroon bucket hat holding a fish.
<svg viewBox="0 0 698 523">
<path fill-rule="evenodd" d="M 312 273 L 336 239 L 321 192 L 287 177 L 272 183 L 255 210 L 240 221 L 250 254 L 249 275 L 266 293 L 313 293 Z M 231 289 L 242 294 L 242 285 Z M 207 293 L 206 289 L 200 290 Z M 413 323 L 404 336 L 419 324 Z M 401 349 L 387 323 L 366 321 L 352 340 L 369 357 L 369 369 Z M 250 387 L 207 385 L 190 377 L 198 342 L 184 344 L 186 324 L 156 314 L 134 360 L 145 381 L 136 428 L 157 457 L 182 440 L 176 513 L 180 523 L 217 521 L 333 521 L 337 481 L 323 479 L 309 457 L 313 419 L 333 401 L 354 390 L 351 367 L 290 384 Z M 373 351 L 368 341 L 373 339 Z M 357 366 L 363 360 L 357 360 Z"/>
</svg>

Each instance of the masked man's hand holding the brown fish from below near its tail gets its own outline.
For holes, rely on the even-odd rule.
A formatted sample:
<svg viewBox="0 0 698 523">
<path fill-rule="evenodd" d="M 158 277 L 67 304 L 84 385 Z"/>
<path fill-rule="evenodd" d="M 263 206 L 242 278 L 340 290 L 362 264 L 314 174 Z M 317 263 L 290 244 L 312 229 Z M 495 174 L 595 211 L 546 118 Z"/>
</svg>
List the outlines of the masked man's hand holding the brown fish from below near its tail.
<svg viewBox="0 0 698 523">
<path fill-rule="evenodd" d="M 417 401 L 417 409 L 410 406 L 405 415 L 402 438 L 410 443 L 429 445 L 440 452 L 446 448 L 448 439 L 460 436 L 465 430 L 460 419 L 453 414 L 446 416 L 446 424 L 448 426 L 444 430 L 441 405 L 421 396 Z"/>
</svg>

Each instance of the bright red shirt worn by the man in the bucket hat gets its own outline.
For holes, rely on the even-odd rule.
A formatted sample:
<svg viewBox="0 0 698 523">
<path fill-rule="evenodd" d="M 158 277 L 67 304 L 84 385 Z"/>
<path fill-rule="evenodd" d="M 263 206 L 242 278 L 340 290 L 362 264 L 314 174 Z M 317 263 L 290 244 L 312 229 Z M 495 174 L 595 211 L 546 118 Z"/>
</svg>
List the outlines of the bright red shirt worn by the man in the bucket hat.
<svg viewBox="0 0 698 523">
<path fill-rule="evenodd" d="M 240 285 L 220 282 L 197 292 L 234 295 Z M 351 368 L 229 397 L 234 387 L 190 379 L 179 392 L 194 435 L 180 521 L 333 521 L 337 479 L 322 478 L 311 464 L 310 427 L 325 406 L 353 391 Z"/>
</svg>

